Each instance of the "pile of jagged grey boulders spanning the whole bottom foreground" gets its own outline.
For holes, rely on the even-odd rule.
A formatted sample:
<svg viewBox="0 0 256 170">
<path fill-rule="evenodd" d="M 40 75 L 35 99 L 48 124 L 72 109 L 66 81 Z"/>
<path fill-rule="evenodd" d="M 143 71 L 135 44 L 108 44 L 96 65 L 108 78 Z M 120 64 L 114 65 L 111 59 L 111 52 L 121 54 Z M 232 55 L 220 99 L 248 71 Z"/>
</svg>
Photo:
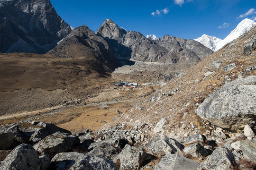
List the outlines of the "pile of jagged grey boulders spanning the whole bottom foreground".
<svg viewBox="0 0 256 170">
<path fill-rule="evenodd" d="M 26 125 L 26 126 L 25 126 Z M 256 136 L 214 138 L 194 134 L 144 138 L 140 127 L 124 124 L 93 133 L 68 130 L 38 121 L 0 129 L 1 170 L 248 170 L 256 168 Z M 221 136 L 224 131 L 216 130 Z M 223 132 L 222 132 L 223 133 Z M 140 137 L 137 137 L 140 134 Z M 142 137 L 143 139 L 142 139 Z M 217 140 L 212 140 L 212 139 Z M 146 143 L 142 143 L 146 141 Z M 9 151 L 9 154 L 6 154 Z"/>
</svg>

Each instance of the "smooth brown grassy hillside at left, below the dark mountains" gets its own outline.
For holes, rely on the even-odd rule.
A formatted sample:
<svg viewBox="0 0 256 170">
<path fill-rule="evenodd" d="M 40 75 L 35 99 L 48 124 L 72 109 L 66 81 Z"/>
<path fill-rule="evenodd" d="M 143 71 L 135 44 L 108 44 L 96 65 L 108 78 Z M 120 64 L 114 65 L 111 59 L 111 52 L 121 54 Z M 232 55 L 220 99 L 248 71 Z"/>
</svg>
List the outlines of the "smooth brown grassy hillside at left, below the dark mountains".
<svg viewBox="0 0 256 170">
<path fill-rule="evenodd" d="M 90 53 L 66 59 L 50 54 L 0 53 L 0 115 L 85 98 L 98 93 L 95 87 L 110 84 L 108 75 Z"/>
</svg>

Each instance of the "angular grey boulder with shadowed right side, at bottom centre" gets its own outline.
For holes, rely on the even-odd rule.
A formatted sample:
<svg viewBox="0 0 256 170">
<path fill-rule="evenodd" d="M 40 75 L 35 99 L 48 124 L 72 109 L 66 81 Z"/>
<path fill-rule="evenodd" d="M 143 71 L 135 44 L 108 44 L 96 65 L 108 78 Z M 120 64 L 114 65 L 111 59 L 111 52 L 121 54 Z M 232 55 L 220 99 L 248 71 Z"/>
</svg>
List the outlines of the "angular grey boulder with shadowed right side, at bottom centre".
<svg viewBox="0 0 256 170">
<path fill-rule="evenodd" d="M 126 144 L 114 162 L 120 165 L 121 170 L 139 170 L 143 163 L 151 159 L 151 155 Z"/>
</svg>

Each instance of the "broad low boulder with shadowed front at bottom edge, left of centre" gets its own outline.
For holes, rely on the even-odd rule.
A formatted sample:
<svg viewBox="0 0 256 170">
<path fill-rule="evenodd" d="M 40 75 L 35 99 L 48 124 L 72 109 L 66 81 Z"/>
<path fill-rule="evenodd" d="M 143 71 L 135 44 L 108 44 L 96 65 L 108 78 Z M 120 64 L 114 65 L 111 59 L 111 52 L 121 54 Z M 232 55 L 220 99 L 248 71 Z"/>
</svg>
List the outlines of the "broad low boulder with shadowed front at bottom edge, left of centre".
<svg viewBox="0 0 256 170">
<path fill-rule="evenodd" d="M 50 165 L 53 170 L 118 170 L 117 166 L 106 159 L 83 153 L 58 153 Z"/>
</svg>

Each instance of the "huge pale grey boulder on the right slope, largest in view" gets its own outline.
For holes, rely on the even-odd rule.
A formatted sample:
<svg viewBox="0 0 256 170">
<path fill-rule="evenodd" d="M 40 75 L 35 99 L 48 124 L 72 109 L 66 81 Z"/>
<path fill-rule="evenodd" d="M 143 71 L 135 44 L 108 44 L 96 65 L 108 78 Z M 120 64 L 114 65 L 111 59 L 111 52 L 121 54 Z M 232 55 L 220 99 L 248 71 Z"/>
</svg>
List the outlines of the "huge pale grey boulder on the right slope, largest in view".
<svg viewBox="0 0 256 170">
<path fill-rule="evenodd" d="M 206 119 L 229 131 L 241 131 L 256 122 L 256 76 L 239 78 L 211 93 L 195 110 Z M 256 130 L 256 126 L 253 127 Z"/>
</svg>

